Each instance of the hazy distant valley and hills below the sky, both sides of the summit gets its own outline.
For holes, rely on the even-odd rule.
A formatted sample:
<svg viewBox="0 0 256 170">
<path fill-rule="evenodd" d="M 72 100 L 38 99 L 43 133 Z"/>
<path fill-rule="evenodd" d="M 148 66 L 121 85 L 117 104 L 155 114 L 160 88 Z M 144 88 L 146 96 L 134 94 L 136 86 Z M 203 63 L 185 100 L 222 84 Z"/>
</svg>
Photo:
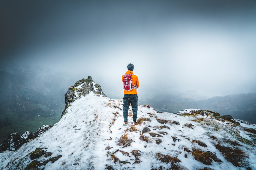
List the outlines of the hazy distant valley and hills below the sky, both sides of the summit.
<svg viewBox="0 0 256 170">
<path fill-rule="evenodd" d="M 0 70 L 0 142 L 14 132 L 35 132 L 42 125 L 57 123 L 65 106 L 64 94 L 68 86 L 77 81 L 73 79 L 47 68 L 13 67 L 10 72 Z M 111 94 L 106 95 L 111 98 Z M 230 114 L 236 119 L 256 124 L 256 93 L 207 99 L 144 88 L 138 91 L 138 95 L 138 104 L 150 104 L 159 112 L 177 113 L 183 109 L 198 108 L 221 115 Z"/>
</svg>

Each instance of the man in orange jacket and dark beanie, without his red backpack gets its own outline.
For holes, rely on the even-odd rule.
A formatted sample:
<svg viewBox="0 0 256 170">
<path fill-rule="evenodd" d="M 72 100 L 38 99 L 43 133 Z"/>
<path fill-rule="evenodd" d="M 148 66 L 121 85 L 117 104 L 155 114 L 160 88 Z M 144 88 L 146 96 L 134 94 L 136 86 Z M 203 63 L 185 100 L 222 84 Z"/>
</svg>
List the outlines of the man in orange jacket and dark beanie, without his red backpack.
<svg viewBox="0 0 256 170">
<path fill-rule="evenodd" d="M 137 111 L 138 111 L 138 95 L 137 89 L 139 87 L 139 80 L 136 75 L 133 74 L 133 64 L 128 64 L 127 69 L 128 71 L 125 74 L 132 74 L 132 85 L 134 86 L 132 90 L 126 91 L 124 90 L 124 101 L 123 101 L 123 116 L 124 116 L 124 125 L 128 124 L 128 110 L 130 104 L 132 105 L 132 116 L 133 116 L 133 124 L 136 125 L 137 121 Z M 122 81 L 125 76 L 122 76 Z"/>
</svg>

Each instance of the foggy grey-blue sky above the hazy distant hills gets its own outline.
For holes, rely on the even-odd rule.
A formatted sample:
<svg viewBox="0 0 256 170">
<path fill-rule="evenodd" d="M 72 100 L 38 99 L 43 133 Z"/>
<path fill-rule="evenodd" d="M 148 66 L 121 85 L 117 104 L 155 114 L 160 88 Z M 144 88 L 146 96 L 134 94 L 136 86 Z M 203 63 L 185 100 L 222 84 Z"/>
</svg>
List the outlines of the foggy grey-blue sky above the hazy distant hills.
<svg viewBox="0 0 256 170">
<path fill-rule="evenodd" d="M 1 70 L 91 75 L 108 97 L 122 98 L 121 76 L 133 63 L 138 93 L 256 92 L 255 0 L 1 1 L 0 16 Z"/>
</svg>

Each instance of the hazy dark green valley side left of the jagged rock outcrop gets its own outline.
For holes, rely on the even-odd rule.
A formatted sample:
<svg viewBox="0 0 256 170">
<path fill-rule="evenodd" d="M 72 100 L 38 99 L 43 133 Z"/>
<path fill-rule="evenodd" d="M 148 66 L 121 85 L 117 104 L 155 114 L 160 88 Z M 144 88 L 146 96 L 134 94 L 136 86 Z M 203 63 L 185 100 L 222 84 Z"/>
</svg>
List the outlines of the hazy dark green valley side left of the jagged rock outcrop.
<svg viewBox="0 0 256 170">
<path fill-rule="evenodd" d="M 67 88 L 56 72 L 43 68 L 12 68 L 0 71 L 0 141 L 59 121 Z"/>
</svg>

